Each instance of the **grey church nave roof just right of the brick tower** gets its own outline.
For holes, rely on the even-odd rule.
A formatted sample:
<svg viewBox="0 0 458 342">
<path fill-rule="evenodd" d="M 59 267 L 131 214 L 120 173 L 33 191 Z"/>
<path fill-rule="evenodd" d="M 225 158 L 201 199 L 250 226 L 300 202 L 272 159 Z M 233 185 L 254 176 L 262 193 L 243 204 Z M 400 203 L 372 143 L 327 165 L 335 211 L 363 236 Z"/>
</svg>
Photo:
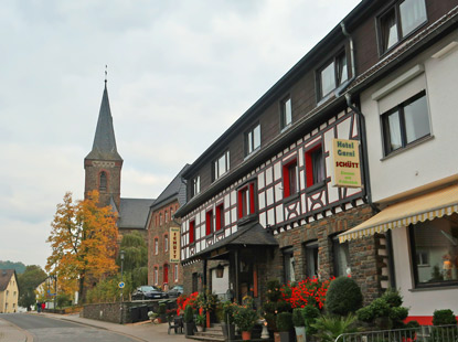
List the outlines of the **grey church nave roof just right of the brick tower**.
<svg viewBox="0 0 458 342">
<path fill-rule="evenodd" d="M 152 199 L 120 199 L 119 228 L 145 228 Z"/>
</svg>

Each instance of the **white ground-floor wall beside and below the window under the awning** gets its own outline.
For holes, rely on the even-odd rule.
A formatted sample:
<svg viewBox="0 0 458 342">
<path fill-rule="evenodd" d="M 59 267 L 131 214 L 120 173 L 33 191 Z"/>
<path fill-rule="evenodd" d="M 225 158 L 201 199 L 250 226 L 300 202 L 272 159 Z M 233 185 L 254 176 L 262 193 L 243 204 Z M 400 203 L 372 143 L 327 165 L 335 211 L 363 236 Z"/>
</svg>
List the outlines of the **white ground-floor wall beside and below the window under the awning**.
<svg viewBox="0 0 458 342">
<path fill-rule="evenodd" d="M 393 229 L 393 256 L 396 288 L 404 299 L 404 307 L 409 308 L 408 316 L 433 316 L 434 310 L 450 309 L 458 312 L 458 288 L 438 287 L 415 290 L 411 266 L 407 229 Z"/>
</svg>

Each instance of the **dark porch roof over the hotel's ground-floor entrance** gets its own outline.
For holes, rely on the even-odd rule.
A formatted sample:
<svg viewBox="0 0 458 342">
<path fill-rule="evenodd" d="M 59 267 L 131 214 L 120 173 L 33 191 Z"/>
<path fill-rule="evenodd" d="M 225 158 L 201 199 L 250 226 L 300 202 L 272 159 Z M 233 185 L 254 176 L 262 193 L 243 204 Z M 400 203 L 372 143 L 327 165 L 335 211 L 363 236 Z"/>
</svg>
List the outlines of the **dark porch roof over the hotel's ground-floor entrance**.
<svg viewBox="0 0 458 342">
<path fill-rule="evenodd" d="M 277 239 L 271 235 L 266 228 L 264 228 L 258 222 L 252 222 L 247 225 L 239 227 L 234 234 L 219 241 L 212 246 L 205 248 L 204 250 L 194 254 L 189 257 L 189 260 L 196 259 L 203 255 L 221 248 L 221 247 L 239 247 L 239 246 L 278 246 Z"/>
</svg>

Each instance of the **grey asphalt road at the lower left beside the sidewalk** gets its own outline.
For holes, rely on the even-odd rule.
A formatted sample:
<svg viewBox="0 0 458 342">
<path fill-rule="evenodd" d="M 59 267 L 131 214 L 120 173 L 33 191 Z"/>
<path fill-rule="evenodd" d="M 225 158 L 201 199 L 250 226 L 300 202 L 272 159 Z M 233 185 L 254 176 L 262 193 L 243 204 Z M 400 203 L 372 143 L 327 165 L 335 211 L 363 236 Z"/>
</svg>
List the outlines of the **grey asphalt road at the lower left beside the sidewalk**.
<svg viewBox="0 0 458 342">
<path fill-rule="evenodd" d="M 2 319 L 29 331 L 34 342 L 135 342 L 136 339 L 99 328 L 55 320 L 40 314 L 3 313 Z"/>
</svg>

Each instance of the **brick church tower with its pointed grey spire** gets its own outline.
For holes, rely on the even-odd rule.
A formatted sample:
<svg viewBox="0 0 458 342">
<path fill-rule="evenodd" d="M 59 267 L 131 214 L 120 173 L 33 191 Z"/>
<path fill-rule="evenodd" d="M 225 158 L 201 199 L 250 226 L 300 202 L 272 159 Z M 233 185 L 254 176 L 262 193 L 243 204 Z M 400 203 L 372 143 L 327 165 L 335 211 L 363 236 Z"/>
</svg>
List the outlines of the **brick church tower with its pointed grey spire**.
<svg viewBox="0 0 458 342">
<path fill-rule="evenodd" d="M 116 149 L 113 117 L 109 109 L 107 81 L 105 79 L 104 96 L 102 97 L 93 149 L 84 159 L 85 186 L 84 197 L 88 192 L 98 190 L 102 206 L 120 206 L 120 179 L 123 158 Z"/>
</svg>

